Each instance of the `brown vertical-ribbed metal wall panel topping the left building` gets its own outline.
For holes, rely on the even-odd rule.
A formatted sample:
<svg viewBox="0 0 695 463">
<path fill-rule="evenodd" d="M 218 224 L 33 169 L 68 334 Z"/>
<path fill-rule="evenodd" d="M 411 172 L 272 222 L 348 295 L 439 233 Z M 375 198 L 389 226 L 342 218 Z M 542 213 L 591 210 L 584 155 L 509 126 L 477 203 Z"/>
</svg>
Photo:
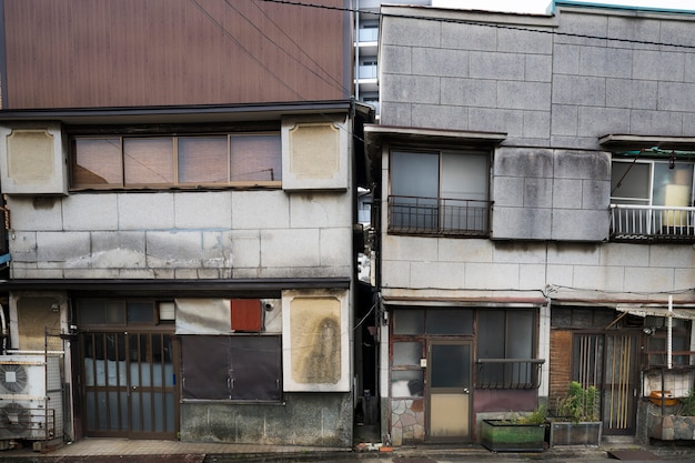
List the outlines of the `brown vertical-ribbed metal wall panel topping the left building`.
<svg viewBox="0 0 695 463">
<path fill-rule="evenodd" d="M 4 109 L 344 99 L 349 14 L 260 0 L 4 0 Z"/>
</svg>

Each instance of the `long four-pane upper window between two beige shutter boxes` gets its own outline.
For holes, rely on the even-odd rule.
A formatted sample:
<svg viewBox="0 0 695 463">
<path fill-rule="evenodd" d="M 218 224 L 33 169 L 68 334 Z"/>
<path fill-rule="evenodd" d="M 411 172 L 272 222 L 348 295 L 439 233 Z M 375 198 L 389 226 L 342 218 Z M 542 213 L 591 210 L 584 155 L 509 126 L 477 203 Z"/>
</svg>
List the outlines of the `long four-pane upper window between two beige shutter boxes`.
<svg viewBox="0 0 695 463">
<path fill-rule="evenodd" d="M 279 187 L 281 159 L 275 132 L 75 137 L 71 187 Z"/>
</svg>

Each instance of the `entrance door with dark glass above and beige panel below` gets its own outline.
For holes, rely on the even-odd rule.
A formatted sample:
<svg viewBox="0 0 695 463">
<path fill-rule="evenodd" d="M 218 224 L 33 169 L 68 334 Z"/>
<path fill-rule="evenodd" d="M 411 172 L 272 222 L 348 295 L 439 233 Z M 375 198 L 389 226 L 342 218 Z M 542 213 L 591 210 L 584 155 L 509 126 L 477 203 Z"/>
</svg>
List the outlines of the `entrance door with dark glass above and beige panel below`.
<svg viewBox="0 0 695 463">
<path fill-rule="evenodd" d="M 427 346 L 427 437 L 471 439 L 471 344 L 432 341 Z"/>
</svg>

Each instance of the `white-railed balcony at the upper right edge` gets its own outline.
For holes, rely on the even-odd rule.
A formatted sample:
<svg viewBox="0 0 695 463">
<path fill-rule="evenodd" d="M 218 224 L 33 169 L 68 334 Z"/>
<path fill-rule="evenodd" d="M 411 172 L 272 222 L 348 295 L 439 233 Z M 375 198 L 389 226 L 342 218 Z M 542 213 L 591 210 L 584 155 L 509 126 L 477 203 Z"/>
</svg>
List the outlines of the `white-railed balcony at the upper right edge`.
<svg viewBox="0 0 695 463">
<path fill-rule="evenodd" d="M 611 204 L 611 239 L 695 242 L 695 208 Z"/>
</svg>

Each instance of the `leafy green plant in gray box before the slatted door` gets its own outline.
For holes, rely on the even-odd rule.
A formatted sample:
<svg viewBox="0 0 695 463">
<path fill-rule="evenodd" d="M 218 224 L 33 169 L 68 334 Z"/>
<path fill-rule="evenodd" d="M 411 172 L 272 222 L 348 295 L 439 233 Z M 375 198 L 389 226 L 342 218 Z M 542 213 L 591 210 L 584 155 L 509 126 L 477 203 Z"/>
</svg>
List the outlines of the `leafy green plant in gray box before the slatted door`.
<svg viewBox="0 0 695 463">
<path fill-rule="evenodd" d="M 603 423 L 595 386 L 570 383 L 567 396 L 557 401 L 555 417 L 548 420 L 550 446 L 600 445 Z"/>
</svg>

